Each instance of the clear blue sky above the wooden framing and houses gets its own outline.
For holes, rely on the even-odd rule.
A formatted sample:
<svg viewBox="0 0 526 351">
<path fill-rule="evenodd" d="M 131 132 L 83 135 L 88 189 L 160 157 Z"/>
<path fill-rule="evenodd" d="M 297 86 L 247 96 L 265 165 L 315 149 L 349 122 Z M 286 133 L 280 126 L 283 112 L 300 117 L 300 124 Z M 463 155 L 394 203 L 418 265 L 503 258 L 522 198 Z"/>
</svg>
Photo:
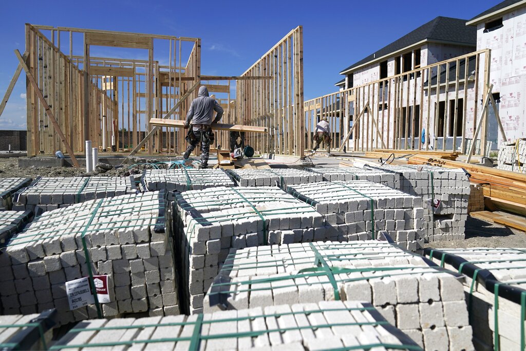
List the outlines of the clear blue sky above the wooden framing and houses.
<svg viewBox="0 0 526 351">
<path fill-rule="evenodd" d="M 469 19 L 498 0 L 15 1 L 0 13 L 0 96 L 24 52 L 24 23 L 200 37 L 201 73 L 239 75 L 290 29 L 304 26 L 305 99 L 336 90 L 338 74 L 436 16 Z M 110 51 L 110 49 L 108 49 Z M 0 129 L 25 129 L 21 77 Z M 1 97 L 0 97 L 1 98 Z"/>
</svg>

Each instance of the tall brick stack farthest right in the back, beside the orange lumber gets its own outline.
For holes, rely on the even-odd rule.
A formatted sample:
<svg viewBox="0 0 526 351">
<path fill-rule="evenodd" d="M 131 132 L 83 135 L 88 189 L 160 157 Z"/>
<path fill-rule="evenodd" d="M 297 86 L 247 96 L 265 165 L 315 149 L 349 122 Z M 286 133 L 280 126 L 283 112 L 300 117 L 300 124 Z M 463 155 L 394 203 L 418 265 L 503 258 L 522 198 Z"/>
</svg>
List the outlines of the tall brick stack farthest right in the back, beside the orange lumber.
<svg viewBox="0 0 526 351">
<path fill-rule="evenodd" d="M 427 165 L 371 168 L 398 173 L 399 190 L 422 198 L 426 242 L 464 239 L 470 187 L 469 178 L 462 169 Z"/>
</svg>

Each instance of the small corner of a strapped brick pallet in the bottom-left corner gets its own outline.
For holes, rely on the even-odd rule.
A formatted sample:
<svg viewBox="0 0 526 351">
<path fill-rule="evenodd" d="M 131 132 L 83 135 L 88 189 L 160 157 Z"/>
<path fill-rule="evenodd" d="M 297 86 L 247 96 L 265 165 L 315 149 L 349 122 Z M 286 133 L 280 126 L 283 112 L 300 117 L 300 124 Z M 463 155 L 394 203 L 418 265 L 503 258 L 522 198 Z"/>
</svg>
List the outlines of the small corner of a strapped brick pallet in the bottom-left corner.
<svg viewBox="0 0 526 351">
<path fill-rule="evenodd" d="M 57 312 L 0 316 L 0 349 L 47 350 L 53 337 Z"/>
</svg>

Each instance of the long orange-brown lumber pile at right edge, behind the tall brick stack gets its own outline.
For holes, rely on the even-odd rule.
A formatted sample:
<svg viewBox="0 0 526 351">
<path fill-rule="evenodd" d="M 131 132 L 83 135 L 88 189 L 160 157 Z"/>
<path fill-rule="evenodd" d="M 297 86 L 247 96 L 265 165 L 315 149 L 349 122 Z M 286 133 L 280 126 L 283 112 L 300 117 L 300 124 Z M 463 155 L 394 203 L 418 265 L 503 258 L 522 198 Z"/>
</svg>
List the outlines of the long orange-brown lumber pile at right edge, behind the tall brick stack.
<svg viewBox="0 0 526 351">
<path fill-rule="evenodd" d="M 487 184 L 483 187 L 484 197 L 491 199 L 495 206 L 523 216 L 526 215 L 526 174 L 419 155 L 410 157 L 408 163 L 464 168 L 471 174 L 470 181 L 472 183 Z"/>
</svg>

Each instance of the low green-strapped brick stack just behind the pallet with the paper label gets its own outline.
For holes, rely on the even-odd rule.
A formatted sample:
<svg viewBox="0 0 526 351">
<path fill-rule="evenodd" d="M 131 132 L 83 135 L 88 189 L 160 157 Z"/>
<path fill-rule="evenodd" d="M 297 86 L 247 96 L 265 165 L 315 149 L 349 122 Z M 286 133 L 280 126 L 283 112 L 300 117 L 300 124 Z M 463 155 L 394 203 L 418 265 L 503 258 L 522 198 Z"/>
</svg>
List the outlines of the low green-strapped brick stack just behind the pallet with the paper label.
<svg viewBox="0 0 526 351">
<path fill-rule="evenodd" d="M 132 177 L 39 178 L 16 194 L 13 209 L 46 212 L 87 200 L 136 192 Z"/>
</svg>

